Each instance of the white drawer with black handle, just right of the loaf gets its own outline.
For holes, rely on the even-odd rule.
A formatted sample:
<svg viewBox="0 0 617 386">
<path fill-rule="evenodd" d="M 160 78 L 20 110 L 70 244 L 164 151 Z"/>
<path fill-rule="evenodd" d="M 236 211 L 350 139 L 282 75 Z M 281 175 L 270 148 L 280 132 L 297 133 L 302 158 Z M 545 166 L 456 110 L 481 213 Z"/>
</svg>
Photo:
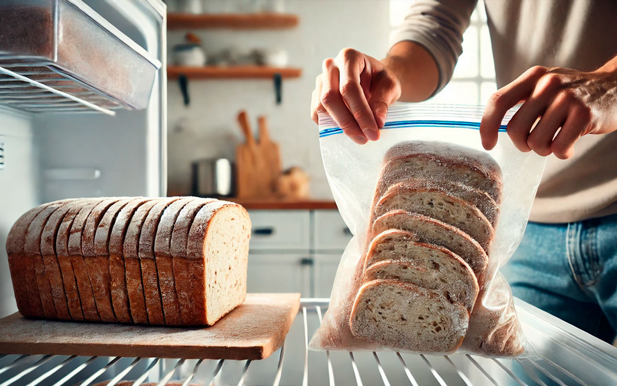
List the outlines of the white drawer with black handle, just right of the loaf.
<svg viewBox="0 0 617 386">
<path fill-rule="evenodd" d="M 254 210 L 251 216 L 251 250 L 308 250 L 310 212 Z"/>
</svg>

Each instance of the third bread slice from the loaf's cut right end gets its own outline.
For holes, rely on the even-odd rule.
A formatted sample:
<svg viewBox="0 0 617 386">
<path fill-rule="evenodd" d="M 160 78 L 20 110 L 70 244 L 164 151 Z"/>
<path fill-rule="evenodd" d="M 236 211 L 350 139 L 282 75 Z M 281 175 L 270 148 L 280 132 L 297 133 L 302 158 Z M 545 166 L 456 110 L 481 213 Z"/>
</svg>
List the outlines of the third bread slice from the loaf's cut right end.
<svg viewBox="0 0 617 386">
<path fill-rule="evenodd" d="M 173 225 L 176 218 L 186 204 L 194 198 L 182 198 L 165 208 L 159 220 L 154 239 L 154 256 L 157 274 L 159 276 L 160 298 L 163 304 L 163 316 L 167 325 L 181 325 L 180 305 L 176 296 L 175 281 L 173 278 L 173 262 L 170 245 L 172 241 Z"/>
</svg>

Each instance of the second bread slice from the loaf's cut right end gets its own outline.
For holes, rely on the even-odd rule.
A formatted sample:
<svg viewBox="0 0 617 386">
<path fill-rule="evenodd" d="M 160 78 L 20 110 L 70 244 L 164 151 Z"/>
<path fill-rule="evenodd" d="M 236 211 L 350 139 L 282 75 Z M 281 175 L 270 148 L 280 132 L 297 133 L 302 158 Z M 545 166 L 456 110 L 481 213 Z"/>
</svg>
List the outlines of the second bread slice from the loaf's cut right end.
<svg viewBox="0 0 617 386">
<path fill-rule="evenodd" d="M 183 325 L 190 325 L 192 319 L 191 312 L 191 276 L 189 272 L 189 262 L 186 258 L 186 244 L 189 231 L 199 209 L 205 204 L 216 201 L 215 199 L 196 198 L 186 204 L 176 217 L 173 225 L 170 250 L 172 252 L 173 281 L 176 286 L 176 296 L 180 304 L 180 319 Z"/>
</svg>

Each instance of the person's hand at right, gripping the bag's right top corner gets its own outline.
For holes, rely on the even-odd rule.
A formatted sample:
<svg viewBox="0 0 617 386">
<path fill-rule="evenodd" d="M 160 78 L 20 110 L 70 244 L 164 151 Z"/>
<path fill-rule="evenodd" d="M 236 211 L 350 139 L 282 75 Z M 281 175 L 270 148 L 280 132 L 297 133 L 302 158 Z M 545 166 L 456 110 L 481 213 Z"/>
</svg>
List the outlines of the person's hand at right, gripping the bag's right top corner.
<svg viewBox="0 0 617 386">
<path fill-rule="evenodd" d="M 566 159 L 581 136 L 616 130 L 617 71 L 605 67 L 593 72 L 540 66 L 527 70 L 492 94 L 480 124 L 482 146 L 495 147 L 503 116 L 521 101 L 506 129 L 520 151 Z"/>
</svg>

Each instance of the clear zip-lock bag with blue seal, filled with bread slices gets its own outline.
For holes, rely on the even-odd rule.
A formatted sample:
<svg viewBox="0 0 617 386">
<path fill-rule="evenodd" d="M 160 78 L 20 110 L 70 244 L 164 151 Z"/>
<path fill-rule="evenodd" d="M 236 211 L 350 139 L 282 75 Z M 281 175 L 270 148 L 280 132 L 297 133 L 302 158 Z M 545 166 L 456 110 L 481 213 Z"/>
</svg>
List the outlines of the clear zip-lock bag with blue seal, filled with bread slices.
<svg viewBox="0 0 617 386">
<path fill-rule="evenodd" d="M 530 353 L 499 269 L 523 232 L 544 157 L 505 128 L 482 148 L 482 106 L 394 104 L 357 145 L 320 115 L 323 164 L 354 237 L 312 350 Z"/>
</svg>

